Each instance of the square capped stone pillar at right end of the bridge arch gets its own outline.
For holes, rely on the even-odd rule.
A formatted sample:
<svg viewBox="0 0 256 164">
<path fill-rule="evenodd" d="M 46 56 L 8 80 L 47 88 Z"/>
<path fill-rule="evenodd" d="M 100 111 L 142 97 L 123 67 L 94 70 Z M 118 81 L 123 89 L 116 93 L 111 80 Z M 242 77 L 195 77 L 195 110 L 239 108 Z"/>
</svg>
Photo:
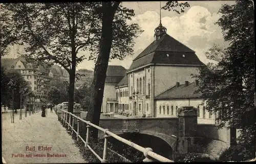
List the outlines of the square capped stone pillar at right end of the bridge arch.
<svg viewBox="0 0 256 164">
<path fill-rule="evenodd" d="M 184 106 L 178 109 L 178 147 L 177 155 L 183 155 L 191 150 L 197 131 L 197 108 Z"/>
</svg>

